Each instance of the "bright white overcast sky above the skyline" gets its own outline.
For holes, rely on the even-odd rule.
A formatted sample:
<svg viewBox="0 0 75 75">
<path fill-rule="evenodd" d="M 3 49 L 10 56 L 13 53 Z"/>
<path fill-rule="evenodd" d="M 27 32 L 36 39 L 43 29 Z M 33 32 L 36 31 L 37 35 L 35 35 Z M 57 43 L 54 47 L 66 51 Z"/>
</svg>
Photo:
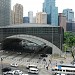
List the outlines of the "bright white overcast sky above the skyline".
<svg viewBox="0 0 75 75">
<path fill-rule="evenodd" d="M 16 3 L 23 5 L 23 16 L 28 16 L 28 11 L 33 11 L 34 16 L 37 12 L 41 12 L 44 0 L 11 0 L 11 9 Z M 73 9 L 75 13 L 75 0 L 56 0 L 58 12 L 61 13 L 63 9 Z"/>
</svg>

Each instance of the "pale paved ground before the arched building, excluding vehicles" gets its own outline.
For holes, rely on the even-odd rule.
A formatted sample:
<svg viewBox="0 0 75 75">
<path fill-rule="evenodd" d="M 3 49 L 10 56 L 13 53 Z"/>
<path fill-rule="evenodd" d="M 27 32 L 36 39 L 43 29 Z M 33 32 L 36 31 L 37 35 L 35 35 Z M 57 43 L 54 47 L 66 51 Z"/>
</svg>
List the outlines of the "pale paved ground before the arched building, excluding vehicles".
<svg viewBox="0 0 75 75">
<path fill-rule="evenodd" d="M 23 71 L 25 74 L 28 74 L 28 70 L 26 69 L 26 66 L 29 64 L 35 64 L 37 65 L 39 69 L 38 75 L 52 75 L 51 68 L 53 66 L 58 65 L 60 61 L 64 61 L 64 63 L 70 63 L 73 60 L 72 57 L 69 57 L 69 56 L 66 56 L 66 59 L 65 59 L 65 58 L 58 58 L 58 57 L 54 58 L 51 55 L 48 55 L 48 57 L 39 59 L 38 54 L 36 55 L 33 53 L 18 54 L 16 52 L 2 52 L 2 51 L 0 51 L 0 58 L 3 58 L 3 61 L 2 61 L 3 67 L 11 67 L 10 66 L 11 63 L 17 63 L 19 67 L 17 68 L 11 67 L 12 70 L 19 69 Z M 46 61 L 43 61 L 43 59 L 46 59 Z M 46 69 L 46 66 L 48 66 L 48 70 Z M 1 68 L 2 67 L 0 62 L 0 69 Z M 28 75 L 33 75 L 33 74 L 28 74 Z"/>
</svg>

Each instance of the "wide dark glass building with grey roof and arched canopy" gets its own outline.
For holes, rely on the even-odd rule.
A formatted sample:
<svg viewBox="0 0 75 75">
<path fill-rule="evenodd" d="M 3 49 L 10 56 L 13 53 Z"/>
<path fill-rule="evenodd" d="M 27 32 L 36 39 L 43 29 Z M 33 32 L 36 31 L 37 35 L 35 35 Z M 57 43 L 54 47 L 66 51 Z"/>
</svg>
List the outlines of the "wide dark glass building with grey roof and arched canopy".
<svg viewBox="0 0 75 75">
<path fill-rule="evenodd" d="M 47 47 L 47 49 L 51 47 L 51 54 L 54 54 L 54 53 L 60 54 L 60 51 L 63 45 L 63 34 L 64 34 L 63 28 L 61 28 L 60 26 L 25 23 L 21 25 L 11 25 L 6 27 L 0 27 L 0 38 L 1 38 L 0 42 L 2 42 L 3 40 L 6 40 L 4 41 L 3 48 L 6 48 L 6 47 L 13 48 L 13 46 L 10 46 L 11 44 L 12 45 L 15 44 L 17 45 L 17 47 L 19 47 L 18 45 L 22 44 L 22 47 L 25 48 L 25 46 L 27 47 L 28 45 L 32 45 L 34 43 L 33 45 L 34 46 L 38 45 L 38 48 L 40 48 L 39 46 L 41 46 L 42 47 L 41 50 L 44 50 L 43 47 L 44 48 Z M 22 39 L 25 39 L 23 40 L 24 45 L 23 45 L 23 41 L 21 41 L 20 36 L 22 37 Z"/>
</svg>

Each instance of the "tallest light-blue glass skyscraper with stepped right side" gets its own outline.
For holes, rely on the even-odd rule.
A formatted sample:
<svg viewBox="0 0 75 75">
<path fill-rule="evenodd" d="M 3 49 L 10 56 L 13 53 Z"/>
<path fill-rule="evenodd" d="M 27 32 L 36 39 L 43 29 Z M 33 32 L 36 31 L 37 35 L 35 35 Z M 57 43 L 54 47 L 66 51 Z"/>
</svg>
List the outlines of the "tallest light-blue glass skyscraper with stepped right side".
<svg viewBox="0 0 75 75">
<path fill-rule="evenodd" d="M 45 0 L 43 12 L 47 13 L 48 24 L 58 26 L 58 7 L 55 6 L 55 0 Z"/>
</svg>

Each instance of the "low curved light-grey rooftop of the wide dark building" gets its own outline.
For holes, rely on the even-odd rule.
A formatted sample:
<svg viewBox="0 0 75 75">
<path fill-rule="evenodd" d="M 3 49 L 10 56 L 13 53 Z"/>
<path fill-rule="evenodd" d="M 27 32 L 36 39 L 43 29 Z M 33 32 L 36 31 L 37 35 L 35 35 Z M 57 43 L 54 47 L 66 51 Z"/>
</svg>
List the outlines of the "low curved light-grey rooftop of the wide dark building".
<svg viewBox="0 0 75 75">
<path fill-rule="evenodd" d="M 8 26 L 1 26 L 0 28 L 23 28 L 23 27 L 60 27 L 50 24 L 37 24 L 37 23 L 23 23 L 23 24 L 14 24 Z"/>
</svg>

